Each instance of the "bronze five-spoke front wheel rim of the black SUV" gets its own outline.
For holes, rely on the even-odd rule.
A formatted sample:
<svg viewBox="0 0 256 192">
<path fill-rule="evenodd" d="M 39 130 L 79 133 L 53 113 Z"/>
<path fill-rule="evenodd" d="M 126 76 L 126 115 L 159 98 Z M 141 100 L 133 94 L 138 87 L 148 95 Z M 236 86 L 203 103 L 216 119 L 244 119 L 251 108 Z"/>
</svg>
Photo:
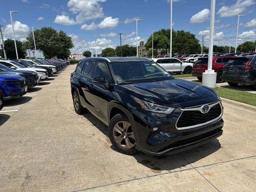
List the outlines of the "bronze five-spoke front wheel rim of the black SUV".
<svg viewBox="0 0 256 192">
<path fill-rule="evenodd" d="M 119 121 L 114 125 L 113 136 L 118 145 L 129 149 L 135 146 L 132 125 L 127 121 Z"/>
</svg>

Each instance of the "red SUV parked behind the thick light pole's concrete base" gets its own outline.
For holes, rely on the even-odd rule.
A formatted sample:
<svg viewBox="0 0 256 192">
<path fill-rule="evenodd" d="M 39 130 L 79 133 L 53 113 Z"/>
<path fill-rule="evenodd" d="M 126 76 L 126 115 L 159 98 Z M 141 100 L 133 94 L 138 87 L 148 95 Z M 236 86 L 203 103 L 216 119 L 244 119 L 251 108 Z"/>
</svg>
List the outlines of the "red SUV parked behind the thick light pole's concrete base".
<svg viewBox="0 0 256 192">
<path fill-rule="evenodd" d="M 215 56 L 212 58 L 212 70 L 217 73 L 216 83 L 224 82 L 221 79 L 222 69 L 224 64 L 234 56 Z M 198 80 L 202 81 L 202 76 L 205 70 L 208 69 L 208 57 L 198 58 L 193 65 L 192 76 L 197 77 Z"/>
</svg>

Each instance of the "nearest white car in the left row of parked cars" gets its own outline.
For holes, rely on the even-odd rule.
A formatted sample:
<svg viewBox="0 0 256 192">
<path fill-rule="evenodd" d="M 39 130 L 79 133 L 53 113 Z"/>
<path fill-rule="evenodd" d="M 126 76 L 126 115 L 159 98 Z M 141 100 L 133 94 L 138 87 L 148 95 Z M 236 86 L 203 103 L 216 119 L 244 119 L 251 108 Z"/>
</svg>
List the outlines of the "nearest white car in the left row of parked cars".
<svg viewBox="0 0 256 192">
<path fill-rule="evenodd" d="M 36 67 L 24 67 L 22 64 L 19 64 L 12 60 L 1 60 L 1 62 L 2 62 L 2 65 L 9 67 L 13 70 L 18 69 L 18 70 L 24 70 L 24 71 L 37 72 L 39 81 L 44 81 L 48 79 L 48 73 L 46 69 L 36 68 Z"/>
</svg>

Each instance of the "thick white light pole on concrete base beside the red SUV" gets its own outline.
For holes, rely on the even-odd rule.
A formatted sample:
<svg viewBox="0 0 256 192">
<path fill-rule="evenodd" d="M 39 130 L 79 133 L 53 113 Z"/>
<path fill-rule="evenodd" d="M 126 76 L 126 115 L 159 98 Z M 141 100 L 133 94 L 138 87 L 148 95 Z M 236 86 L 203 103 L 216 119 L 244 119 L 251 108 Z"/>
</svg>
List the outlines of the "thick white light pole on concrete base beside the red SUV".
<svg viewBox="0 0 256 192">
<path fill-rule="evenodd" d="M 213 38 L 214 38 L 214 19 L 215 19 L 215 0 L 211 0 L 211 17 L 210 17 L 210 41 L 209 41 L 209 56 L 208 70 L 203 73 L 202 84 L 210 88 L 216 87 L 217 74 L 212 70 L 212 53 L 213 53 Z"/>
</svg>

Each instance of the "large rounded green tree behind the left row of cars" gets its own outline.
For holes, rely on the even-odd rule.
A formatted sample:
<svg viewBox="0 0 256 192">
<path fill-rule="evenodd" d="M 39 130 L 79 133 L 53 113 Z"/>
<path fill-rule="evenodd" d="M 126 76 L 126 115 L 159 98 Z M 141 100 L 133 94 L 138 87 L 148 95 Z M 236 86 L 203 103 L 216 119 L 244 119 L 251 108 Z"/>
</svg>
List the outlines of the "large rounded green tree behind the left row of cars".
<svg viewBox="0 0 256 192">
<path fill-rule="evenodd" d="M 46 58 L 57 56 L 67 58 L 70 49 L 74 47 L 71 37 L 60 30 L 57 32 L 52 27 L 42 27 L 34 31 L 36 48 L 41 50 Z M 30 31 L 26 37 L 28 47 L 34 43 L 33 34 Z"/>
</svg>

